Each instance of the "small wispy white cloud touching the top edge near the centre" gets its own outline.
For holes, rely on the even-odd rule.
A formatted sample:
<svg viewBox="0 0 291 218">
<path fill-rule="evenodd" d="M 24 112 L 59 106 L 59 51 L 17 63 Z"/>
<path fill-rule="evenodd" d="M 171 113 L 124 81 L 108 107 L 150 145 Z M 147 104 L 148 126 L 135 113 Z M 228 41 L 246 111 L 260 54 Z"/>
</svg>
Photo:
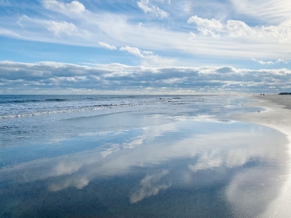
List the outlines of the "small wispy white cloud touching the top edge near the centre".
<svg viewBox="0 0 291 218">
<path fill-rule="evenodd" d="M 163 0 L 156 0 L 160 2 L 164 2 Z M 168 1 L 170 3 L 170 1 Z M 164 19 L 169 16 L 167 12 L 161 10 L 158 6 L 152 5 L 150 0 L 141 0 L 137 2 L 137 6 L 145 12 L 145 14 L 149 13 L 152 16 L 158 17 L 159 19 Z"/>
</svg>

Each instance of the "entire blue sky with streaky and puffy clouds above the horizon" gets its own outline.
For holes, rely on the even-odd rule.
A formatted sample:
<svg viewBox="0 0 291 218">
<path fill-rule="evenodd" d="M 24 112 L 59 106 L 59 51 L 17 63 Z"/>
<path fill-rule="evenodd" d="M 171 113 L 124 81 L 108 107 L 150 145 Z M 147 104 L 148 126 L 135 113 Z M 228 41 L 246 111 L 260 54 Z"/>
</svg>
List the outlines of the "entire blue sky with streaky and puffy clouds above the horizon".
<svg viewBox="0 0 291 218">
<path fill-rule="evenodd" d="M 0 94 L 287 91 L 290 0 L 0 0 Z"/>
</svg>

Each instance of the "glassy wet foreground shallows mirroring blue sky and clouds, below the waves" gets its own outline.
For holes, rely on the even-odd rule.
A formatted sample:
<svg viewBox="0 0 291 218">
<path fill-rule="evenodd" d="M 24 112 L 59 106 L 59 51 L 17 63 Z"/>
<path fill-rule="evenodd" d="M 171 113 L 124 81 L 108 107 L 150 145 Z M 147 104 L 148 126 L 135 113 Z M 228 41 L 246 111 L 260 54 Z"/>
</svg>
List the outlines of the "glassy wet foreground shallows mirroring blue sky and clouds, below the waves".
<svg viewBox="0 0 291 218">
<path fill-rule="evenodd" d="M 0 216 L 256 217 L 284 181 L 286 143 L 267 127 L 185 119 L 3 149 Z"/>
</svg>

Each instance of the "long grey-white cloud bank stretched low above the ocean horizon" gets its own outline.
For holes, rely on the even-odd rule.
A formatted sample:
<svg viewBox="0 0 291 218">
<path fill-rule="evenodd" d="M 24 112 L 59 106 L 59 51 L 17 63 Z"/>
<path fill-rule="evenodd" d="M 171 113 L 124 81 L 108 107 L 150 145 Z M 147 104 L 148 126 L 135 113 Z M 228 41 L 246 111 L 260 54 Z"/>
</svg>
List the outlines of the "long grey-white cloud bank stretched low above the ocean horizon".
<svg viewBox="0 0 291 218">
<path fill-rule="evenodd" d="M 94 67 L 56 62 L 0 62 L 3 93 L 23 91 L 240 91 L 291 89 L 288 69 L 236 69 L 231 66 L 145 67 L 123 64 Z M 163 88 L 164 87 L 164 88 Z"/>
</svg>

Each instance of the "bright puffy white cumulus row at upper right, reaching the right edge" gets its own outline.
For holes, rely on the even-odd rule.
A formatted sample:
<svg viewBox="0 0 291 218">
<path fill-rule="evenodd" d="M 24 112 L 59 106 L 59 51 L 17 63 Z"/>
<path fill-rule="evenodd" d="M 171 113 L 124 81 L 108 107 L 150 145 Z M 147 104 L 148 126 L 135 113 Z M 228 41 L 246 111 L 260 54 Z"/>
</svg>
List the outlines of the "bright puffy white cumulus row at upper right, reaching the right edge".
<svg viewBox="0 0 291 218">
<path fill-rule="evenodd" d="M 228 20 L 227 24 L 222 24 L 219 20 L 203 19 L 195 15 L 187 23 L 195 24 L 202 35 L 276 39 L 280 43 L 291 44 L 291 21 L 279 26 L 250 27 L 243 21 Z"/>
</svg>

